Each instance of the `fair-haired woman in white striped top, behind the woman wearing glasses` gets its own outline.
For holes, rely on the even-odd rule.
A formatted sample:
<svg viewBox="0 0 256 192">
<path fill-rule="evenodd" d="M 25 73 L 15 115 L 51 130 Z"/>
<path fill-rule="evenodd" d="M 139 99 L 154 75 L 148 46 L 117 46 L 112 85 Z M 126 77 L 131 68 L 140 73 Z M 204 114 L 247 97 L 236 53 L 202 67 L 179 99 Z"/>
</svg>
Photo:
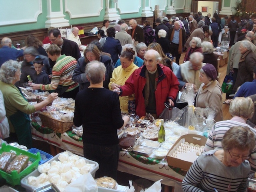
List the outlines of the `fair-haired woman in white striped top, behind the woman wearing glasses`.
<svg viewBox="0 0 256 192">
<path fill-rule="evenodd" d="M 208 139 L 206 141 L 204 151 L 209 151 L 212 149 L 220 149 L 222 146 L 223 134 L 227 132 L 231 127 L 234 126 L 248 126 L 250 130 L 254 133 L 256 137 L 256 130 L 246 124 L 246 120 L 251 118 L 254 114 L 254 103 L 249 97 L 236 97 L 230 102 L 229 113 L 232 115 L 232 119 L 219 121 L 214 124 L 210 130 Z M 256 172 L 256 147 L 254 141 L 254 149 L 251 152 L 251 157 L 249 158 L 251 165 L 251 170 Z"/>
</svg>

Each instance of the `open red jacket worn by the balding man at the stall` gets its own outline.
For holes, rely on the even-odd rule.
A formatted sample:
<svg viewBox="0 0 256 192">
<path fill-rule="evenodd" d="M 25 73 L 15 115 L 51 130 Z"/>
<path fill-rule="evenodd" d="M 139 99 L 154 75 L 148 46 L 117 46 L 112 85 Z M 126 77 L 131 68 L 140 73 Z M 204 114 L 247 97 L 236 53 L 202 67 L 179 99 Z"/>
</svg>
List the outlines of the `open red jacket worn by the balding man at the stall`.
<svg viewBox="0 0 256 192">
<path fill-rule="evenodd" d="M 158 78 L 156 81 L 158 82 L 155 90 L 156 97 L 156 115 L 159 115 L 164 110 L 164 102 L 168 99 L 175 100 L 179 88 L 179 82 L 174 73 L 170 70 L 170 68 L 158 64 Z M 146 115 L 146 107 L 145 100 L 143 96 L 143 89 L 146 85 L 146 66 L 143 65 L 140 68 L 136 69 L 132 75 L 126 80 L 125 84 L 120 87 L 122 93 L 120 96 L 128 96 L 131 94 L 135 94 L 136 99 L 136 114 L 138 116 Z"/>
</svg>

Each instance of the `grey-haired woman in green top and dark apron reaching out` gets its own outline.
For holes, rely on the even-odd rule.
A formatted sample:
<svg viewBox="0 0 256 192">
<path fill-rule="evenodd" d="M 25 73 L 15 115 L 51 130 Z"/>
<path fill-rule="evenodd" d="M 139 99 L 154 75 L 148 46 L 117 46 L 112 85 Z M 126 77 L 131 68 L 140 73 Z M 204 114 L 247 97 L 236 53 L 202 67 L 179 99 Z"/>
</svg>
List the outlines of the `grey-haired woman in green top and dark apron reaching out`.
<svg viewBox="0 0 256 192">
<path fill-rule="evenodd" d="M 0 68 L 0 90 L 4 96 L 6 116 L 10 125 L 10 137 L 7 142 L 18 142 L 28 148 L 32 147 L 32 136 L 30 129 L 30 118 L 32 114 L 58 97 L 57 93 L 50 94 L 46 100 L 31 105 L 14 84 L 20 80 L 20 64 L 14 60 L 8 60 Z M 28 100 L 27 100 L 28 99 Z"/>
</svg>

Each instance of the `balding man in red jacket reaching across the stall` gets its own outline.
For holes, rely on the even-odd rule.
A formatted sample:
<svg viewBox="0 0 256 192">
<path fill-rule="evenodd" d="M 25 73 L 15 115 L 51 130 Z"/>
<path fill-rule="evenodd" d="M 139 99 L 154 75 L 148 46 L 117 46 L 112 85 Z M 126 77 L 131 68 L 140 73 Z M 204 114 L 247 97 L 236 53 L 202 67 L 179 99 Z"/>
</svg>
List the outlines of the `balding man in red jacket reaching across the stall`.
<svg viewBox="0 0 256 192">
<path fill-rule="evenodd" d="M 160 64 L 161 57 L 155 50 L 144 55 L 144 65 L 136 69 L 120 88 L 114 89 L 120 96 L 135 94 L 136 114 L 152 114 L 155 118 L 164 110 L 164 102 L 174 106 L 178 94 L 178 79 L 168 68 Z"/>
</svg>

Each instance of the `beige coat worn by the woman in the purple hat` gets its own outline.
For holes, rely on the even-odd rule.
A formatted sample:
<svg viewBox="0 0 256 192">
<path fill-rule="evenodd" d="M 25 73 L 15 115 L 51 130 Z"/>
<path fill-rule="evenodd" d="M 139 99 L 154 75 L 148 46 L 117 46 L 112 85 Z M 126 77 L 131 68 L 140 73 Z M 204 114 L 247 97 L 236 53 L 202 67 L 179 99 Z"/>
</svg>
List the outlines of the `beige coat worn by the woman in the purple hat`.
<svg viewBox="0 0 256 192">
<path fill-rule="evenodd" d="M 222 90 L 219 82 L 217 80 L 213 81 L 208 87 L 203 90 L 204 83 L 201 84 L 197 96 L 196 96 L 196 110 L 207 116 L 206 106 L 209 106 L 215 111 L 216 122 L 223 120 L 222 113 Z"/>
</svg>

